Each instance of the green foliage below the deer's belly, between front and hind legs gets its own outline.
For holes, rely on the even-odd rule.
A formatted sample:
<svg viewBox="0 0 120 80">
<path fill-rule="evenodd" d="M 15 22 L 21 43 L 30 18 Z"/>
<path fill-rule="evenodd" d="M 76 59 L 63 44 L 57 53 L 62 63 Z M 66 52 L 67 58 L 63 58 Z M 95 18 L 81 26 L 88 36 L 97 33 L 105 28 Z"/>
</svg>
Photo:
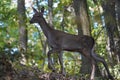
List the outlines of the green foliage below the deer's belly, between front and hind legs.
<svg viewBox="0 0 120 80">
<path fill-rule="evenodd" d="M 64 52 L 64 65 L 69 75 L 79 75 L 81 65 L 80 54 Z"/>
</svg>

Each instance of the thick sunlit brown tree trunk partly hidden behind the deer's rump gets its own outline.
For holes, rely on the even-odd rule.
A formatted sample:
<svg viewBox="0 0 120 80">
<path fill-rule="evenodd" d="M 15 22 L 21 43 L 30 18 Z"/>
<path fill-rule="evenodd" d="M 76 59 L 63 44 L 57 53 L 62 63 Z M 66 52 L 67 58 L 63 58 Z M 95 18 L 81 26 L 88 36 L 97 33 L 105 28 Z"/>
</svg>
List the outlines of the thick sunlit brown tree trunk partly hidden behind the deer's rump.
<svg viewBox="0 0 120 80">
<path fill-rule="evenodd" d="M 74 9 L 76 14 L 76 24 L 78 27 L 78 35 L 90 35 L 86 0 L 74 0 Z M 82 66 L 80 72 L 82 74 L 90 74 L 90 67 L 91 64 L 89 60 L 82 56 Z"/>
</svg>

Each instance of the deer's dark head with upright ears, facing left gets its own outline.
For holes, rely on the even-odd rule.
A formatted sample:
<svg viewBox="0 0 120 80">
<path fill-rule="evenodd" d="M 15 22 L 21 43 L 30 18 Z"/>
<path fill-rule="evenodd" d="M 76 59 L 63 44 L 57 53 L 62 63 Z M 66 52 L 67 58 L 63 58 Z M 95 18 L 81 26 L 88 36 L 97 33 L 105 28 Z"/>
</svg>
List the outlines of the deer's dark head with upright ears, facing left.
<svg viewBox="0 0 120 80">
<path fill-rule="evenodd" d="M 33 11 L 34 11 L 34 15 L 32 17 L 32 19 L 30 20 L 30 23 L 38 23 L 38 21 L 40 20 L 40 18 L 43 18 L 43 13 L 44 13 L 44 7 L 41 8 L 41 11 L 37 11 L 34 7 L 33 8 Z"/>
</svg>

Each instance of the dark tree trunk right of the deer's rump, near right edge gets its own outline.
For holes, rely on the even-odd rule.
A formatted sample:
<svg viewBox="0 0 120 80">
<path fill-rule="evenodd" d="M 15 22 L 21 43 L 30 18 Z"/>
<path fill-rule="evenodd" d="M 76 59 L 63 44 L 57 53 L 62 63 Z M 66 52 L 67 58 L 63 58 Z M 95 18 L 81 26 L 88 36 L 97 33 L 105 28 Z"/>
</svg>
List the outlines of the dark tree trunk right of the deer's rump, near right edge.
<svg viewBox="0 0 120 80">
<path fill-rule="evenodd" d="M 118 29 L 116 25 L 116 11 L 115 11 L 115 1 L 106 0 L 103 3 L 104 16 L 105 16 L 105 26 L 108 35 L 108 53 L 109 53 L 109 62 L 114 63 L 115 60 L 115 38 L 118 36 Z M 113 64 L 112 64 L 113 66 Z"/>
</svg>

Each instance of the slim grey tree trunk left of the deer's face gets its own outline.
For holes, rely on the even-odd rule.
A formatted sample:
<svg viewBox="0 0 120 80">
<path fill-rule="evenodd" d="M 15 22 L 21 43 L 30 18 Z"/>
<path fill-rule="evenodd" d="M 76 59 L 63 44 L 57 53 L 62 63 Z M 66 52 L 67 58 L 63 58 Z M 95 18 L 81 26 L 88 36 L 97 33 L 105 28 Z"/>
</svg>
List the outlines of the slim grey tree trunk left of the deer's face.
<svg viewBox="0 0 120 80">
<path fill-rule="evenodd" d="M 27 51 L 27 26 L 25 15 L 25 0 L 17 0 L 18 20 L 19 20 L 19 48 L 23 60 Z"/>
</svg>

